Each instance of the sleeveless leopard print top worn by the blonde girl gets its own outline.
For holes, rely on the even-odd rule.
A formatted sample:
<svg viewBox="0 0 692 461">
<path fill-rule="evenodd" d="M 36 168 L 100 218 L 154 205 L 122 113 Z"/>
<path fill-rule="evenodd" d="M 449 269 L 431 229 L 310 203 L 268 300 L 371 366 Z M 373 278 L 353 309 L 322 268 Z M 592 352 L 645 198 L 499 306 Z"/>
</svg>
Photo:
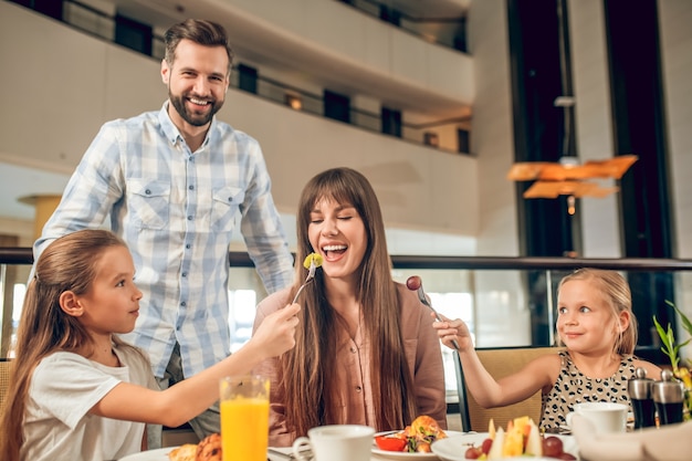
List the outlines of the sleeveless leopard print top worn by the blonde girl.
<svg viewBox="0 0 692 461">
<path fill-rule="evenodd" d="M 618 370 L 608 378 L 589 378 L 572 362 L 569 353 L 560 352 L 563 366 L 553 389 L 543 395 L 541 429 L 560 432 L 567 426 L 566 417 L 575 404 L 612 401 L 630 407 L 627 383 L 635 377 L 635 357 L 622 357 Z M 562 428 L 560 428 L 562 427 Z"/>
</svg>

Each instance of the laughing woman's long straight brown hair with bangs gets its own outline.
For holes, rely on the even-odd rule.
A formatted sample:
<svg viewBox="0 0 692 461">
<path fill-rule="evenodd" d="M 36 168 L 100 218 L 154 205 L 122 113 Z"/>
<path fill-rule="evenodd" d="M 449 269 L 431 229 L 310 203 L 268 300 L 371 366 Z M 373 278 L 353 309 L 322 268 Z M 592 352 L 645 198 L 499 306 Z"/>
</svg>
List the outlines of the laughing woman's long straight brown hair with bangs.
<svg viewBox="0 0 692 461">
<path fill-rule="evenodd" d="M 350 205 L 366 228 L 367 249 L 360 264 L 356 296 L 360 302 L 365 334 L 371 344 L 370 374 L 376 425 L 380 431 L 401 429 L 416 417 L 411 370 L 401 338 L 397 289 L 391 279 L 385 224 L 373 187 L 349 168 L 326 170 L 307 182 L 296 217 L 296 284 L 305 279 L 303 260 L 313 252 L 307 228 L 310 213 L 323 198 Z M 305 289 L 296 346 L 281 359 L 285 390 L 286 423 L 290 431 L 304 436 L 307 430 L 337 421 L 336 313 L 331 308 L 322 271 Z"/>
</svg>

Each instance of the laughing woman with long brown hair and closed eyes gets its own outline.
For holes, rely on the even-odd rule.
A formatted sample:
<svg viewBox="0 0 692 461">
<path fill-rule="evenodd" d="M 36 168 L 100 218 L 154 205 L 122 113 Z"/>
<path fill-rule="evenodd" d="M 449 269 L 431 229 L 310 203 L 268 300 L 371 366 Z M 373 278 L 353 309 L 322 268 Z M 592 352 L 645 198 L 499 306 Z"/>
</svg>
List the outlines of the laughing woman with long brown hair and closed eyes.
<svg viewBox="0 0 692 461">
<path fill-rule="evenodd" d="M 368 180 L 326 170 L 303 189 L 296 217 L 296 282 L 260 303 L 255 329 L 291 302 L 302 262 L 322 256 L 298 297 L 296 346 L 255 371 L 271 377 L 270 446 L 287 446 L 315 426 L 403 429 L 420 415 L 447 427 L 444 371 L 432 318 L 391 277 L 385 224 Z"/>
</svg>

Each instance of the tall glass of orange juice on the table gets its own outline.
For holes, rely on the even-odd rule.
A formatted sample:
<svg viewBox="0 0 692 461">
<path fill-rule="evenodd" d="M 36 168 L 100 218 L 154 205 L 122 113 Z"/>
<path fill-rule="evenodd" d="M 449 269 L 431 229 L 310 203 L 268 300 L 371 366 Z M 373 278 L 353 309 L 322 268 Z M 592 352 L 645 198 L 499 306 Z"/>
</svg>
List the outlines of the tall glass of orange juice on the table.
<svg viewBox="0 0 692 461">
<path fill-rule="evenodd" d="M 223 461 L 265 461 L 269 443 L 269 399 L 235 397 L 221 401 Z"/>
</svg>

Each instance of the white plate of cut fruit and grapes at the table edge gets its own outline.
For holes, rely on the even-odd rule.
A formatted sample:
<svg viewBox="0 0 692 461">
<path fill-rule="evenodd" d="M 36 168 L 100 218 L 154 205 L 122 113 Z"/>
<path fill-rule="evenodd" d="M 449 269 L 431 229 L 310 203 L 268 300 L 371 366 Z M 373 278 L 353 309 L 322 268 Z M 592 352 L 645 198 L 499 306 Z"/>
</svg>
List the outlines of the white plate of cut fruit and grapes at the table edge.
<svg viewBox="0 0 692 461">
<path fill-rule="evenodd" d="M 531 457 L 539 460 L 578 460 L 579 450 L 572 436 L 547 434 L 528 417 L 515 418 L 507 429 L 462 433 L 438 440 L 431 451 L 442 461 L 503 460 Z"/>
</svg>

